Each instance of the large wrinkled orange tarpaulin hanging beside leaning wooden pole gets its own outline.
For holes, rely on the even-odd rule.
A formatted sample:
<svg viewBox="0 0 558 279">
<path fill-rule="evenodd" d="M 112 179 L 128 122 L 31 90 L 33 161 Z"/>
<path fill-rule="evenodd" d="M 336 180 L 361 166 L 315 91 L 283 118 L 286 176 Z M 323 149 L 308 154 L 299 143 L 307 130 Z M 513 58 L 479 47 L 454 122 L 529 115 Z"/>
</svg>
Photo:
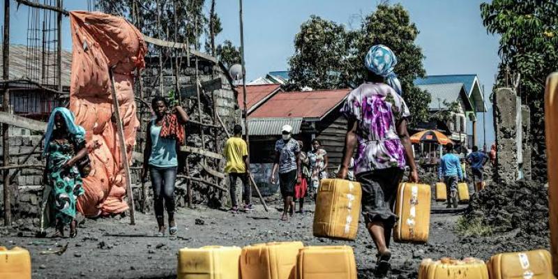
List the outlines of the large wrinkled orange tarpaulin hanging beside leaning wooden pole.
<svg viewBox="0 0 558 279">
<path fill-rule="evenodd" d="M 103 13 L 70 12 L 73 40 L 70 110 L 86 130 L 91 174 L 84 179 L 85 195 L 77 202 L 84 216 L 121 213 L 128 209 L 109 69 L 113 68 L 116 96 L 124 128 L 128 160 L 140 121 L 133 92 L 133 71 L 144 68 L 146 45 L 142 33 L 121 17 Z"/>
</svg>

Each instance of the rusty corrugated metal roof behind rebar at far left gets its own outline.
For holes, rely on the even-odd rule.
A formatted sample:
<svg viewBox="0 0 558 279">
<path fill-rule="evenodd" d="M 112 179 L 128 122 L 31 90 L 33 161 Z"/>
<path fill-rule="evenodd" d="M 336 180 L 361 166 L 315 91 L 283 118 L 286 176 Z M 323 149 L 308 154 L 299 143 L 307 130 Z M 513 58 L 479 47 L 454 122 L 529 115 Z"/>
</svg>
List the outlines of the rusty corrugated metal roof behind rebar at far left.
<svg viewBox="0 0 558 279">
<path fill-rule="evenodd" d="M 33 52 L 33 50 L 30 50 Z M 29 77 L 31 73 L 27 73 L 27 45 L 10 45 L 10 80 L 16 80 L 20 78 L 30 78 L 34 82 L 38 82 L 43 85 L 55 85 L 52 84 L 52 78 L 50 82 L 43 82 L 42 76 L 42 68 L 43 68 L 43 55 L 41 54 L 42 50 L 38 50 L 36 52 L 36 59 L 30 60 L 31 64 L 29 65 L 30 69 L 33 69 L 33 72 L 38 74 L 38 77 Z M 52 64 L 52 66 L 48 66 L 48 73 L 45 73 L 47 77 L 54 77 L 54 71 L 56 70 L 56 55 L 47 54 L 49 61 L 46 64 Z M 0 64 L 2 63 L 3 55 L 2 50 L 0 49 Z M 47 59 L 45 59 L 47 60 Z M 68 50 L 62 50 L 62 86 L 70 86 L 70 73 L 72 70 L 72 52 Z M 0 75 L 3 74 L 3 69 L 0 67 Z"/>
</svg>

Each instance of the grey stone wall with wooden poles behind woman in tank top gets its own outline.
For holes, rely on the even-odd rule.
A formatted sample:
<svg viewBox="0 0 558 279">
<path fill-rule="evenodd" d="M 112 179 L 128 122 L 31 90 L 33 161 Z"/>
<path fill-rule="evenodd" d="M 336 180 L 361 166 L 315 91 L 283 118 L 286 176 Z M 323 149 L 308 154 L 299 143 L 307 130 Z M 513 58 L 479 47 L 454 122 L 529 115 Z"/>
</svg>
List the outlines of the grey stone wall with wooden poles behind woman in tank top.
<svg viewBox="0 0 558 279">
<path fill-rule="evenodd" d="M 174 61 L 174 59 L 169 59 Z M 218 114 L 223 121 L 224 126 L 229 133 L 232 133 L 234 124 L 240 123 L 241 111 L 236 100 L 236 92 L 233 90 L 232 84 L 227 78 L 227 74 L 223 72 L 223 68 L 211 61 L 199 59 L 198 61 L 198 79 L 202 85 L 199 88 L 199 102 L 197 100 L 196 91 L 196 75 L 195 60 L 190 60 L 190 67 L 186 63 L 186 57 L 181 59 L 181 67 L 178 76 L 173 70 L 174 64 L 169 62 L 163 68 L 163 91 L 161 92 L 159 85 L 159 67 L 157 59 L 147 59 L 146 70 L 143 75 L 144 84 L 144 100 L 151 103 L 151 98 L 159 94 L 169 96 L 169 92 L 176 91 L 176 81 L 178 80 L 179 92 L 181 97 L 181 105 L 185 108 L 190 116 L 191 122 L 186 126 L 186 146 L 193 146 L 197 149 L 205 149 L 213 153 L 223 154 L 223 146 L 227 140 L 227 133 L 223 129 L 220 121 L 214 114 Z M 148 84 L 146 86 L 146 84 Z M 176 94 L 178 95 L 178 94 Z M 178 98 L 178 97 L 176 97 Z M 199 103 L 199 107 L 198 107 Z M 202 114 L 199 114 L 201 107 Z M 138 135 L 137 151 L 142 152 L 144 146 L 144 135 L 147 120 L 151 117 L 151 112 L 147 107 L 140 110 L 140 118 L 142 121 L 142 131 Z M 197 122 L 197 123 L 196 123 Z M 209 123 L 211 126 L 201 126 L 199 123 Z M 203 140 L 202 140 L 203 135 Z M 202 144 L 203 142 L 203 144 Z M 188 160 L 188 167 L 186 167 Z M 179 156 L 179 174 L 203 179 L 214 184 L 218 184 L 222 188 L 229 188 L 229 179 L 218 179 L 216 176 L 206 172 L 200 164 L 223 172 L 225 167 L 224 160 L 199 156 L 196 153 L 181 153 Z M 186 191 L 186 179 L 177 179 L 176 199 L 179 205 L 185 204 L 188 200 L 188 192 Z M 209 204 L 210 206 L 227 206 L 230 204 L 229 194 L 215 187 L 209 186 L 207 183 L 199 183 L 191 181 L 193 189 L 194 204 Z M 236 188 L 239 192 L 241 187 Z"/>
</svg>

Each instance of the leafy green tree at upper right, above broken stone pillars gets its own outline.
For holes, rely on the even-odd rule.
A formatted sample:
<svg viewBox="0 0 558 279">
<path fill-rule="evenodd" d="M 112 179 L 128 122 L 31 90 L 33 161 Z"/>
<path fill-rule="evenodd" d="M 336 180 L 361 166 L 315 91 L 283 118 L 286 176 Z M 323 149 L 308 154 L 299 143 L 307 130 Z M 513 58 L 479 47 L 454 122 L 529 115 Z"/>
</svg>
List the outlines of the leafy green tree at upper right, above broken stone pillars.
<svg viewBox="0 0 558 279">
<path fill-rule="evenodd" d="M 533 177 L 546 177 L 544 139 L 545 78 L 558 65 L 558 1 L 493 0 L 481 4 L 481 17 L 489 33 L 499 34 L 502 63 L 495 89 L 511 86 L 520 75 L 519 90 L 531 109 L 534 139 Z"/>
</svg>

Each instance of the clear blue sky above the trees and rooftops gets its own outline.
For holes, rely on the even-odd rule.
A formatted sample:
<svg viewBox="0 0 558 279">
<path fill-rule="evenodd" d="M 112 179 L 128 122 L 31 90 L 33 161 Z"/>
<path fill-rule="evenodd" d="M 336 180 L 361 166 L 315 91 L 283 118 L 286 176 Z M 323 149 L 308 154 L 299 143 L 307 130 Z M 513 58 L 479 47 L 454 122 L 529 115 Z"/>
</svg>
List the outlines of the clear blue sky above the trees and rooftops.
<svg viewBox="0 0 558 279">
<path fill-rule="evenodd" d="M 209 0 L 206 0 L 206 12 Z M 361 17 L 375 10 L 376 0 L 244 0 L 244 42 L 248 80 L 272 70 L 287 70 L 287 61 L 294 52 L 293 39 L 300 24 L 319 15 L 327 20 L 358 28 Z M 499 63 L 498 39 L 486 33 L 479 6 L 481 0 L 400 0 L 421 33 L 417 43 L 426 58 L 428 75 L 477 74 L 488 95 Z M 12 1 L 12 43 L 26 43 L 27 8 L 16 10 Z M 85 10 L 85 0 L 64 1 L 68 10 Z M 216 0 L 216 10 L 223 23 L 223 32 L 216 39 L 240 44 L 239 6 L 236 0 Z M 2 11 L 3 16 L 3 11 Z M 68 20 L 64 20 L 63 48 L 70 49 Z M 488 103 L 488 107 L 492 107 Z M 478 115 L 478 142 L 482 144 L 482 116 Z M 492 112 L 486 114 L 487 144 L 494 141 Z"/>
</svg>

